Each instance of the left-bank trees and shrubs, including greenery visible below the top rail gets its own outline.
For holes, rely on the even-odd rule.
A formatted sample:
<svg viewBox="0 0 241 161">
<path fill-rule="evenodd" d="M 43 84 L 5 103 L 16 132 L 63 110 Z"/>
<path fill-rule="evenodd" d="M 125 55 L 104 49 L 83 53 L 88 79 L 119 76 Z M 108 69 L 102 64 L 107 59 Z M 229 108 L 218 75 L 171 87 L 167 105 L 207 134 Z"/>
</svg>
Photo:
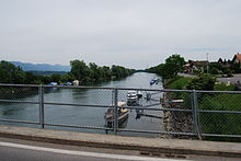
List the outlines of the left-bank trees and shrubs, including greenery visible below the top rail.
<svg viewBox="0 0 241 161">
<path fill-rule="evenodd" d="M 79 81 L 79 85 L 95 85 L 111 80 L 120 80 L 135 72 L 134 69 L 127 69 L 122 66 L 100 67 L 94 62 L 87 65 L 83 60 L 70 61 L 71 70 L 69 72 L 53 73 L 53 74 L 35 74 L 33 72 L 23 71 L 22 68 L 15 67 L 8 61 L 0 61 L 0 83 L 9 84 L 73 84 L 74 80 Z M 39 73 L 39 72 L 38 72 Z M 44 72 L 46 73 L 46 72 Z M 48 72 L 47 72 L 48 73 Z M 24 95 L 37 93 L 37 88 L 14 88 L 0 87 L 0 99 L 18 99 Z"/>
</svg>

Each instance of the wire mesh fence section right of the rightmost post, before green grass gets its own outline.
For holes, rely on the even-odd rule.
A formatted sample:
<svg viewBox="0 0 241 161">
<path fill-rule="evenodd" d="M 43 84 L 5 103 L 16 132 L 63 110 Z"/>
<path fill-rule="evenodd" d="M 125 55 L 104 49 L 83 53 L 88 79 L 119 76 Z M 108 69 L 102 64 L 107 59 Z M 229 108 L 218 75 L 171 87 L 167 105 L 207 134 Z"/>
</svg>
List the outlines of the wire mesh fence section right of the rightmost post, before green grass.
<svg viewBox="0 0 241 161">
<path fill-rule="evenodd" d="M 230 139 L 241 135 L 241 94 L 238 92 L 199 92 L 199 124 L 203 136 L 207 139 Z M 229 137 L 229 138 L 228 138 Z"/>
</svg>

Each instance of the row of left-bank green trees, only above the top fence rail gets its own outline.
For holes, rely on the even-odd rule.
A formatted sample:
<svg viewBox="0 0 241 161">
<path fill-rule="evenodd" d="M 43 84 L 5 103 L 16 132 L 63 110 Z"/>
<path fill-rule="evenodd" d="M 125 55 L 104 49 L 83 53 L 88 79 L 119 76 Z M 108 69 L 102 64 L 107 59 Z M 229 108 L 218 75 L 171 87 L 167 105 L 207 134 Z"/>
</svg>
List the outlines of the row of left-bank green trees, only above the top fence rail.
<svg viewBox="0 0 241 161">
<path fill-rule="evenodd" d="M 79 80 L 81 84 L 102 80 L 120 79 L 135 72 L 122 66 L 99 67 L 94 62 L 89 66 L 82 60 L 70 61 L 71 70 L 65 74 L 54 73 L 51 76 L 37 76 L 33 72 L 25 72 L 8 61 L 0 61 L 0 83 L 19 84 L 48 84 L 50 82 L 72 82 Z"/>
</svg>

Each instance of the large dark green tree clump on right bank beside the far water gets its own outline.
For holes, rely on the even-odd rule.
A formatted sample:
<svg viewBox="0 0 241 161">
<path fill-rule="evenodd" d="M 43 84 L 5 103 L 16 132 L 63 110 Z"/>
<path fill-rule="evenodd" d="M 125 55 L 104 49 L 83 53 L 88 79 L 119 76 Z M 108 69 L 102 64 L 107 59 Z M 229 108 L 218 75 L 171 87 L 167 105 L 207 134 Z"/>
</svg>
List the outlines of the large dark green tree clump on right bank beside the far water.
<svg viewBox="0 0 241 161">
<path fill-rule="evenodd" d="M 164 64 L 146 69 L 148 72 L 153 72 L 164 79 L 173 78 L 177 72 L 182 71 L 185 60 L 180 55 L 175 54 L 165 59 Z"/>
</svg>

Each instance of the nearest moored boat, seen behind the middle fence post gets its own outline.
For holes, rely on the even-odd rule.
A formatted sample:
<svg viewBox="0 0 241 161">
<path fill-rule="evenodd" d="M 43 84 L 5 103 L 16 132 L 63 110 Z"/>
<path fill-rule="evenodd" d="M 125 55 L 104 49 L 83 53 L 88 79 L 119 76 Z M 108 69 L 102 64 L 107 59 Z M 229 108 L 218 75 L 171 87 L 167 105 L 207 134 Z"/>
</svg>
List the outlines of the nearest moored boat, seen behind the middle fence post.
<svg viewBox="0 0 241 161">
<path fill-rule="evenodd" d="M 126 102 L 118 102 L 118 124 L 122 124 L 129 115 L 129 108 L 126 108 Z M 110 107 L 104 116 L 105 120 L 107 122 L 107 127 L 112 127 L 114 123 L 114 107 Z"/>
</svg>

